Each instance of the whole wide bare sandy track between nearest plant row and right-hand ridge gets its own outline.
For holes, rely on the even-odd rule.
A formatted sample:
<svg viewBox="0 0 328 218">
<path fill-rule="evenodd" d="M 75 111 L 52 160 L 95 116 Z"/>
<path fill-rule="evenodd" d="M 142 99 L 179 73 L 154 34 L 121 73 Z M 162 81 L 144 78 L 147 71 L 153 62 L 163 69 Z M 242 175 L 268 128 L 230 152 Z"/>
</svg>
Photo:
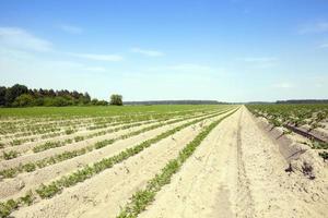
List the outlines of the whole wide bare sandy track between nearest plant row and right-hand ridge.
<svg viewBox="0 0 328 218">
<path fill-rule="evenodd" d="M 327 178 L 308 180 L 286 167 L 243 107 L 210 133 L 139 217 L 327 217 Z"/>
</svg>

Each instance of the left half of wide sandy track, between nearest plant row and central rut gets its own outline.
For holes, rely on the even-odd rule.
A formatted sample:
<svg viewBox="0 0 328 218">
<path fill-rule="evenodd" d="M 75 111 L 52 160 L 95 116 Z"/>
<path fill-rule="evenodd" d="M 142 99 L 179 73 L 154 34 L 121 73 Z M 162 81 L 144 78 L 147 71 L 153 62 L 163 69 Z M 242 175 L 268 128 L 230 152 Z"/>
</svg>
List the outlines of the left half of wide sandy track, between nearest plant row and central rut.
<svg viewBox="0 0 328 218">
<path fill-rule="evenodd" d="M 232 217 L 242 110 L 223 120 L 140 217 Z"/>
</svg>

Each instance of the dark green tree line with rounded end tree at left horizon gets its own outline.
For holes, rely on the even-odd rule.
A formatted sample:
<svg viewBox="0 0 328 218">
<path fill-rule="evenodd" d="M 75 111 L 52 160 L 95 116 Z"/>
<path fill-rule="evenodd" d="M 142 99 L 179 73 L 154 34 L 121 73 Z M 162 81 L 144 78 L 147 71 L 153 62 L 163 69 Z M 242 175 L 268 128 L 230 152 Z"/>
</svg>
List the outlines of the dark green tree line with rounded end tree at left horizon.
<svg viewBox="0 0 328 218">
<path fill-rule="evenodd" d="M 107 106 L 122 105 L 120 95 L 112 95 L 110 101 L 91 99 L 87 93 L 67 89 L 31 89 L 15 84 L 11 87 L 0 86 L 0 107 L 63 107 L 63 106 Z"/>
</svg>

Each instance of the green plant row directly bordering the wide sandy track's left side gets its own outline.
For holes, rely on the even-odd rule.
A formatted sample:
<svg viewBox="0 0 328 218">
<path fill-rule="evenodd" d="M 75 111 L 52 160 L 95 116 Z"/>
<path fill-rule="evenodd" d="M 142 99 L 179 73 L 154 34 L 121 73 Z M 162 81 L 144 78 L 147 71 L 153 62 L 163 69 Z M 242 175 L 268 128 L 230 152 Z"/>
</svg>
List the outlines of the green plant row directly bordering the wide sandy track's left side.
<svg viewBox="0 0 328 218">
<path fill-rule="evenodd" d="M 220 120 L 206 126 L 190 143 L 188 143 L 183 150 L 180 150 L 176 159 L 169 160 L 166 166 L 156 174 L 152 180 L 150 180 L 143 190 L 137 191 L 131 201 L 121 209 L 117 218 L 134 218 L 145 207 L 154 201 L 156 193 L 171 182 L 171 178 L 176 173 L 184 162 L 194 154 L 196 148 L 201 144 L 201 142 L 209 135 L 209 133 L 225 118 L 234 113 L 235 111 L 224 116 Z"/>
</svg>

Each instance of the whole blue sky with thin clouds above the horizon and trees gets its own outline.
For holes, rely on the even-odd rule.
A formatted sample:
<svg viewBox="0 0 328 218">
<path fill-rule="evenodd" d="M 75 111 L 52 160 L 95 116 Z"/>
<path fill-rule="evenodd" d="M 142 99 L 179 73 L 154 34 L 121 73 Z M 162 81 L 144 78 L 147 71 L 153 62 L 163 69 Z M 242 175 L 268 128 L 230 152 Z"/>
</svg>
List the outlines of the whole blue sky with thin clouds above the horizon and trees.
<svg viewBox="0 0 328 218">
<path fill-rule="evenodd" d="M 0 0 L 0 84 L 108 99 L 328 98 L 326 0 Z"/>
</svg>

